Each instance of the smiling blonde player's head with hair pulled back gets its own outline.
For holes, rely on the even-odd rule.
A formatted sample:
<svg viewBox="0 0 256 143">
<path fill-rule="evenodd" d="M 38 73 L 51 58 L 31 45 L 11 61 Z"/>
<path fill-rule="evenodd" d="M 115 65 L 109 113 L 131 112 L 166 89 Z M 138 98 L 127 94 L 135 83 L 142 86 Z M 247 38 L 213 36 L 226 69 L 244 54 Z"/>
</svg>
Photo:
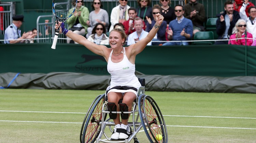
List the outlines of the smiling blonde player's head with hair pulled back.
<svg viewBox="0 0 256 143">
<path fill-rule="evenodd" d="M 109 34 L 109 44 L 111 48 L 120 48 L 123 46 L 125 38 L 122 38 L 121 34 L 117 31 L 111 31 Z"/>
</svg>

